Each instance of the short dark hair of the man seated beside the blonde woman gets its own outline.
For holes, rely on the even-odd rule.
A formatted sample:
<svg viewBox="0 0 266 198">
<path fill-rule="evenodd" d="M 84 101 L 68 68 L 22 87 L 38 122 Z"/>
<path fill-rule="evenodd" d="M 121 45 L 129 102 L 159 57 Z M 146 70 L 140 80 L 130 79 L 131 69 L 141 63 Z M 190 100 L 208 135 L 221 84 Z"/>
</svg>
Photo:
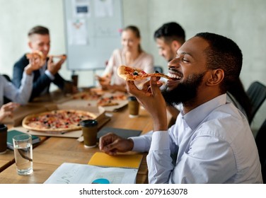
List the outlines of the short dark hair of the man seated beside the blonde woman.
<svg viewBox="0 0 266 198">
<path fill-rule="evenodd" d="M 163 38 L 165 42 L 177 40 L 182 45 L 185 42 L 185 30 L 175 22 L 164 23 L 154 33 L 154 39 Z"/>
</svg>

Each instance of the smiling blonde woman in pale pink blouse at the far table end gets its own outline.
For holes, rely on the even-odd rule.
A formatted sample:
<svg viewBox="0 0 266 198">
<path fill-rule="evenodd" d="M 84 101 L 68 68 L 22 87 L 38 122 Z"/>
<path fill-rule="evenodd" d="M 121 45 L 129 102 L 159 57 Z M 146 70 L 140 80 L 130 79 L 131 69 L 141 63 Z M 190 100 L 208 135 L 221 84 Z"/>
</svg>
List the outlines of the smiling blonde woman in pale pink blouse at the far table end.
<svg viewBox="0 0 266 198">
<path fill-rule="evenodd" d="M 122 49 L 112 52 L 103 76 L 97 76 L 103 89 L 125 91 L 125 80 L 117 75 L 120 65 L 142 69 L 146 73 L 154 72 L 154 58 L 141 49 L 141 35 L 136 26 L 129 25 L 122 30 Z"/>
</svg>

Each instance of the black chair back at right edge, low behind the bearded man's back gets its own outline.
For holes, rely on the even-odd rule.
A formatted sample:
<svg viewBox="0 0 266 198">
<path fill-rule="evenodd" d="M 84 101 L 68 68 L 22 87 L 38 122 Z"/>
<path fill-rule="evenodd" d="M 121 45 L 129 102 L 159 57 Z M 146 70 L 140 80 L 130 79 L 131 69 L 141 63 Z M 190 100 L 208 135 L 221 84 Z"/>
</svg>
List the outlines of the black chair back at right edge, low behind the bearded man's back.
<svg viewBox="0 0 266 198">
<path fill-rule="evenodd" d="M 262 179 L 266 183 L 266 119 L 263 122 L 262 126 L 258 130 L 258 133 L 255 137 L 255 141 L 258 148 L 258 153 L 260 156 L 260 164 L 262 170 Z"/>
</svg>

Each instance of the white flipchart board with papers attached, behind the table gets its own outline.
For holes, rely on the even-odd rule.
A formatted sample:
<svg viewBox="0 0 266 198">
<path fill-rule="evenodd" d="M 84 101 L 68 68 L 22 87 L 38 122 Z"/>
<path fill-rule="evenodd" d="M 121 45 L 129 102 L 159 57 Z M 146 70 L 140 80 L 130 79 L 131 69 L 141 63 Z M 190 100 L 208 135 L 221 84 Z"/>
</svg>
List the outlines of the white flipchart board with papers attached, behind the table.
<svg viewBox="0 0 266 198">
<path fill-rule="evenodd" d="M 121 0 L 64 0 L 69 70 L 103 69 L 121 47 Z"/>
</svg>

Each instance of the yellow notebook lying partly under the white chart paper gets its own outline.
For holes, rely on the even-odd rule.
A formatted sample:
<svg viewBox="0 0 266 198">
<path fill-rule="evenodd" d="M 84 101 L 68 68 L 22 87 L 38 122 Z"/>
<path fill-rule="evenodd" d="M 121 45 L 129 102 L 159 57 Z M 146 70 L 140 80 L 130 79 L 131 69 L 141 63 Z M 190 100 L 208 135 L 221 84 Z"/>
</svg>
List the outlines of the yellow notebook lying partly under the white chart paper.
<svg viewBox="0 0 266 198">
<path fill-rule="evenodd" d="M 141 154 L 109 156 L 106 153 L 96 152 L 88 164 L 101 167 L 139 168 L 141 160 Z"/>
</svg>

